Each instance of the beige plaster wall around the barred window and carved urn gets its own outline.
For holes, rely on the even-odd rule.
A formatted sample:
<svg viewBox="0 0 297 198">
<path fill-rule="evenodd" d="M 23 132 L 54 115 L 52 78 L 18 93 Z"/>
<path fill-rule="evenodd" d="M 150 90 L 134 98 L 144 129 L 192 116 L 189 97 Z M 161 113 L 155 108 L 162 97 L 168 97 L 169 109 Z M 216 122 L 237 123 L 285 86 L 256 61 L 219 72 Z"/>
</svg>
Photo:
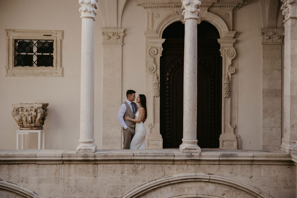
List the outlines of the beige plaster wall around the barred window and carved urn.
<svg viewBox="0 0 297 198">
<path fill-rule="evenodd" d="M 49 103 L 44 129 L 45 148 L 76 149 L 80 130 L 80 5 L 73 0 L 5 0 L 0 7 L 0 149 L 16 148 L 18 125 L 11 104 Z M 95 142 L 102 134 L 102 19 L 97 15 L 95 35 Z M 64 30 L 62 66 L 64 77 L 5 77 L 5 29 Z M 37 135 L 37 134 L 35 134 Z M 34 136 L 34 135 L 33 135 Z M 27 142 L 37 148 L 37 136 Z M 27 138 L 28 139 L 28 138 Z M 26 143 L 26 142 L 25 142 Z M 25 144 L 26 145 L 26 144 Z"/>
</svg>

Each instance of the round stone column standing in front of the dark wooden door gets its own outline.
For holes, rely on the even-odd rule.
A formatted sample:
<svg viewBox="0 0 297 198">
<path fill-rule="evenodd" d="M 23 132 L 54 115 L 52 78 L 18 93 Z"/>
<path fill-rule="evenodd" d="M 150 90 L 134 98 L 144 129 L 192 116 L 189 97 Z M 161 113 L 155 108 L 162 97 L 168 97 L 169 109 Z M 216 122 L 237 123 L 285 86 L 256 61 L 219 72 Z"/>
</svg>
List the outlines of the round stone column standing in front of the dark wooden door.
<svg viewBox="0 0 297 198">
<path fill-rule="evenodd" d="M 179 150 L 183 153 L 199 153 L 197 145 L 197 20 L 201 2 L 182 0 L 182 15 L 185 21 L 184 39 L 184 126 L 183 143 Z"/>
</svg>

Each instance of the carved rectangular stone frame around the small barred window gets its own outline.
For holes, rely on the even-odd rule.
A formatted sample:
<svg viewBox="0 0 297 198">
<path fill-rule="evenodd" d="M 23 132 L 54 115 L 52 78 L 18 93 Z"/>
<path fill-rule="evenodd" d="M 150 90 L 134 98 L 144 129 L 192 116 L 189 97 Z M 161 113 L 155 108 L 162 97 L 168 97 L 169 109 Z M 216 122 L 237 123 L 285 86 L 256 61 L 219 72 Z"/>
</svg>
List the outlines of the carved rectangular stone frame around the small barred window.
<svg viewBox="0 0 297 198">
<path fill-rule="evenodd" d="M 5 76 L 63 77 L 62 40 L 63 30 L 17 30 L 6 29 Z M 14 66 L 15 39 L 53 40 L 53 67 Z"/>
</svg>

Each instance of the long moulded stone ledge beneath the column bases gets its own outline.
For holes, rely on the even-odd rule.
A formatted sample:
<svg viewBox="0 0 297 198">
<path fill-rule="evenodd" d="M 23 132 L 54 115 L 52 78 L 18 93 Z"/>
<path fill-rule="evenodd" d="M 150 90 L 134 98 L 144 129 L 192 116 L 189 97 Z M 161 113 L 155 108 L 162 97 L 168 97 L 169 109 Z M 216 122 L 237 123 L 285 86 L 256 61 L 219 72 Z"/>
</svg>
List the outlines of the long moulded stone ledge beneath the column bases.
<svg viewBox="0 0 297 198">
<path fill-rule="evenodd" d="M 297 161 L 297 156 L 294 158 Z M 283 151 L 202 149 L 97 150 L 0 150 L 0 164 L 294 164 Z"/>
</svg>

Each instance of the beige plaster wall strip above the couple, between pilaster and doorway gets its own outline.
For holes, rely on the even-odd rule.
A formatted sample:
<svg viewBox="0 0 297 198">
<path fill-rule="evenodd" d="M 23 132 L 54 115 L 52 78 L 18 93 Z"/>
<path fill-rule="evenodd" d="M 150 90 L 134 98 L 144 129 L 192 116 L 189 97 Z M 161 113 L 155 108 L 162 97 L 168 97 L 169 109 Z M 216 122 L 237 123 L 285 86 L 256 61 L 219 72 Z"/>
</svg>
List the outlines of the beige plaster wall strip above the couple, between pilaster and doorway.
<svg viewBox="0 0 297 198">
<path fill-rule="evenodd" d="M 128 0 L 123 10 L 121 28 L 124 28 L 122 101 L 126 91 L 132 89 L 138 94 L 145 94 L 145 37 L 146 12 L 136 6 L 134 0 Z M 136 102 L 136 100 L 135 100 Z"/>
</svg>

